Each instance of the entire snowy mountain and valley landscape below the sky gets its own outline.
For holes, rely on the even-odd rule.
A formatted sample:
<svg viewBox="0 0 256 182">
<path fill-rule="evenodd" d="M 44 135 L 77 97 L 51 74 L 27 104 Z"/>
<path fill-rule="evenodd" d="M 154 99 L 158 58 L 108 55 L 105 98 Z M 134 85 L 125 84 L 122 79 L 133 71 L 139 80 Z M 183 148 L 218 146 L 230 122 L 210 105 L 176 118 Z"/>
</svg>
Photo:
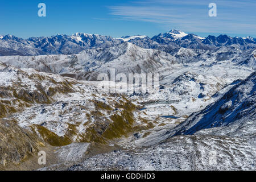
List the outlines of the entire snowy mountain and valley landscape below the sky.
<svg viewBox="0 0 256 182">
<path fill-rule="evenodd" d="M 255 55 L 254 38 L 178 30 L 1 36 L 0 169 L 255 170 Z M 111 69 L 159 86 L 97 79 Z"/>
</svg>

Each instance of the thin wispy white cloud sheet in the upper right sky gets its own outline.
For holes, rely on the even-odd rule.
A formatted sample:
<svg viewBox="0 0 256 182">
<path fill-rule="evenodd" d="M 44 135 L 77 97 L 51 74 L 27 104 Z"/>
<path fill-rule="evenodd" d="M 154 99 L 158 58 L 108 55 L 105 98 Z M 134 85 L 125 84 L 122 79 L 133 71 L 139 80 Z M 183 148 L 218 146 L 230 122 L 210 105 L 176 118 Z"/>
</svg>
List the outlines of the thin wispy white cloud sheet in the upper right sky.
<svg viewBox="0 0 256 182">
<path fill-rule="evenodd" d="M 192 32 L 226 32 L 255 35 L 256 3 L 250 0 L 215 0 L 217 17 L 208 16 L 212 1 L 135 1 L 129 5 L 110 6 L 110 14 L 123 20 L 161 24 Z"/>
</svg>

